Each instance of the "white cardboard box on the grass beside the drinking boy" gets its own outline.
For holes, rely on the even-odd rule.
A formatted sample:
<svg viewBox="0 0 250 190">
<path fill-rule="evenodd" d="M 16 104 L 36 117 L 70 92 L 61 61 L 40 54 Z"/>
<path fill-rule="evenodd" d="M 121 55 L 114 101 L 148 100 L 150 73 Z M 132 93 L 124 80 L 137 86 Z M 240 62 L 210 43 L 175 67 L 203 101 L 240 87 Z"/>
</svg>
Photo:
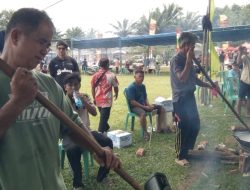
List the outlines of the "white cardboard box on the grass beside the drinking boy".
<svg viewBox="0 0 250 190">
<path fill-rule="evenodd" d="M 110 131 L 107 136 L 112 140 L 113 146 L 117 148 L 122 148 L 132 144 L 132 134 L 126 131 Z"/>
</svg>

